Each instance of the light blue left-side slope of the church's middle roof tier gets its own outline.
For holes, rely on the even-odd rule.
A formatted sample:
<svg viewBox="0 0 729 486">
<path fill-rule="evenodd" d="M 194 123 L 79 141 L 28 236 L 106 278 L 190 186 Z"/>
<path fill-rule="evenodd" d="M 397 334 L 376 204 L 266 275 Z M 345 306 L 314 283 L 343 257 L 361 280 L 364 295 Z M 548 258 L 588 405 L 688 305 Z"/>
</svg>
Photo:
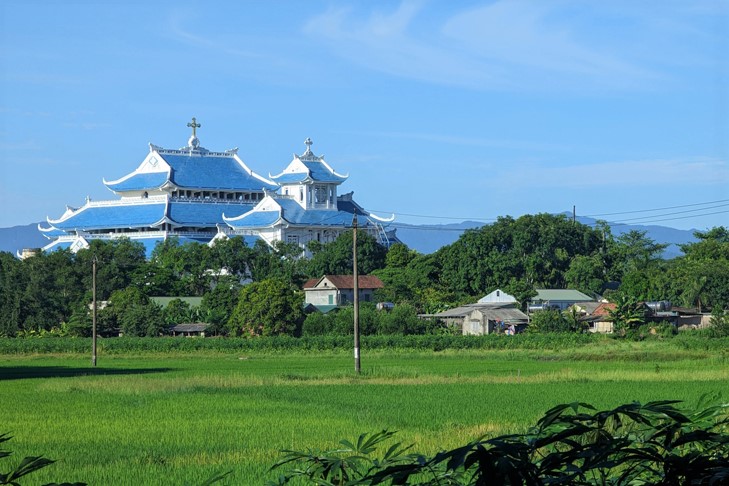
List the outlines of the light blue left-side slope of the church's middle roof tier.
<svg viewBox="0 0 729 486">
<path fill-rule="evenodd" d="M 143 228 L 153 226 L 165 216 L 164 202 L 119 206 L 87 206 L 68 219 L 49 221 L 60 230 L 99 230 L 106 228 Z"/>
</svg>

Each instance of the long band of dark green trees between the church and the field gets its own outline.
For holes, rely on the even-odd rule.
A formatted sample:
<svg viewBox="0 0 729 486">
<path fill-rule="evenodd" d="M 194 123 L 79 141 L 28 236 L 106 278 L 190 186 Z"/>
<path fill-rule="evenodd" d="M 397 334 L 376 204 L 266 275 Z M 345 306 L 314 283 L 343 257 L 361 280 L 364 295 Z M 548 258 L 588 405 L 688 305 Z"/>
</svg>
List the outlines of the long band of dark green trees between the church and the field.
<svg viewBox="0 0 729 486">
<path fill-rule="evenodd" d="M 523 304 L 535 288 L 573 288 L 616 301 L 669 300 L 723 310 L 729 306 L 729 230 L 716 227 L 695 236 L 696 242 L 681 246 L 682 256 L 663 259 L 667 245 L 645 232 L 614 236 L 606 223 L 590 227 L 562 215 L 501 217 L 432 254 L 403 244 L 385 249 L 360 232 L 360 273 L 385 284 L 377 300 L 403 309 L 394 318 L 365 306 L 365 328 L 380 334 L 441 332 L 415 316 L 473 302 L 496 288 Z M 233 237 L 212 246 L 168 239 L 149 259 L 143 245 L 129 239 L 92 240 L 75 254 L 58 250 L 25 260 L 0 253 L 0 335 L 86 335 L 94 258 L 102 334 L 159 335 L 176 323 L 198 321 L 218 334 L 346 333 L 344 315 L 307 316 L 300 289 L 309 278 L 351 274 L 352 233 L 312 242 L 309 249 L 313 256 L 304 259 L 296 245 L 249 247 Z M 202 304 L 173 300 L 162 309 L 152 296 L 198 296 Z"/>
</svg>

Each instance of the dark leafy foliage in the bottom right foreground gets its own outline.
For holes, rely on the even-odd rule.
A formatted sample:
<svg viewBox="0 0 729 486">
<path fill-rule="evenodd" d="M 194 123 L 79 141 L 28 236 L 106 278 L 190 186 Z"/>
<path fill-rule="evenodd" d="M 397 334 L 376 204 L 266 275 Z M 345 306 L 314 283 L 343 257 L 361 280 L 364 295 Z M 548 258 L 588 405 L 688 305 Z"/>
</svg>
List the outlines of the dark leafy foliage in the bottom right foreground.
<svg viewBox="0 0 729 486">
<path fill-rule="evenodd" d="M 294 465 L 278 483 L 315 484 L 723 484 L 729 480 L 729 405 L 695 412 L 677 401 L 638 402 L 596 411 L 586 403 L 548 410 L 525 434 L 478 439 L 433 457 L 390 446 L 391 432 L 363 434 L 355 447 L 324 453 L 283 451 L 272 469 Z"/>
</svg>

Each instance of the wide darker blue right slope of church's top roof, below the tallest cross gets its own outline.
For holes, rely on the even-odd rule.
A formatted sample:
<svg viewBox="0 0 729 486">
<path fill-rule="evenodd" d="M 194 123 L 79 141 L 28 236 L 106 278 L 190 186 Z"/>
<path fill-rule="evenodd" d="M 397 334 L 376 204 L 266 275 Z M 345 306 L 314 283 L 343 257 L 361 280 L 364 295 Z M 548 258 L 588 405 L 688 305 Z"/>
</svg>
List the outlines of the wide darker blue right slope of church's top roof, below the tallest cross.
<svg viewBox="0 0 729 486">
<path fill-rule="evenodd" d="M 160 155 L 172 167 L 170 179 L 179 187 L 240 191 L 276 189 L 275 185 L 249 174 L 233 157 Z"/>
</svg>

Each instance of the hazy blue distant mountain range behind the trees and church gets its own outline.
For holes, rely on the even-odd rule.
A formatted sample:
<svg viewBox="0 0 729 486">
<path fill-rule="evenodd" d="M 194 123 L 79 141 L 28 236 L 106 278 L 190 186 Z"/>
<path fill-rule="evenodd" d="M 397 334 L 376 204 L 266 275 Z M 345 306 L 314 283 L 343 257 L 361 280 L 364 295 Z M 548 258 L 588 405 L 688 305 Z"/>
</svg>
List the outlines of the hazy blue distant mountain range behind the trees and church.
<svg viewBox="0 0 729 486">
<path fill-rule="evenodd" d="M 592 218 L 578 217 L 580 223 L 594 225 Z M 421 253 L 433 253 L 439 248 L 450 245 L 467 229 L 480 228 L 483 223 L 463 221 L 462 223 L 410 225 L 398 224 L 397 236 L 400 240 Z M 664 258 L 681 255 L 680 244 L 696 241 L 694 230 L 678 230 L 666 226 L 615 225 L 614 235 L 621 235 L 631 230 L 645 231 L 646 235 L 657 243 L 668 243 L 670 246 L 663 253 Z M 8 251 L 15 255 L 23 248 L 40 248 L 48 244 L 48 240 L 38 231 L 38 224 L 0 228 L 0 251 Z"/>
</svg>

